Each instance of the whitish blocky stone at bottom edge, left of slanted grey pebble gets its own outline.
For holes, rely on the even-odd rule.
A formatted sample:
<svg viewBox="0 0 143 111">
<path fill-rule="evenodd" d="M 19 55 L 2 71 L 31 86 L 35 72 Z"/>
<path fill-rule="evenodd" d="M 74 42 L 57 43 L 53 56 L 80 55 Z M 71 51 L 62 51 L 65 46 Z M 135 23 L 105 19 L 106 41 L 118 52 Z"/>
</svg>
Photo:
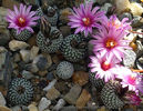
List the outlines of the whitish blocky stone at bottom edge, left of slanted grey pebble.
<svg viewBox="0 0 143 111">
<path fill-rule="evenodd" d="M 42 98 L 41 101 L 39 102 L 38 109 L 39 111 L 43 111 L 47 108 L 49 108 L 50 104 L 51 104 L 50 100 L 48 100 L 47 98 Z"/>
</svg>

